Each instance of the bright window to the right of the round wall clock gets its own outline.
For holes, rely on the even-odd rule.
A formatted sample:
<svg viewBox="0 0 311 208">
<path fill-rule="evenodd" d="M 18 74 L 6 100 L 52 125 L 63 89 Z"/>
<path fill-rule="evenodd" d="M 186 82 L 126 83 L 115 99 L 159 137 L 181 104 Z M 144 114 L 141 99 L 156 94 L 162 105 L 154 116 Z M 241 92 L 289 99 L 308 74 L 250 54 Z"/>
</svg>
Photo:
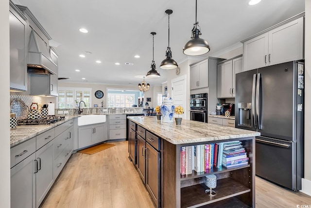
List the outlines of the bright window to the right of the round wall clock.
<svg viewBox="0 0 311 208">
<path fill-rule="evenodd" d="M 108 93 L 107 107 L 130 108 L 134 105 L 134 94 L 115 94 Z"/>
</svg>

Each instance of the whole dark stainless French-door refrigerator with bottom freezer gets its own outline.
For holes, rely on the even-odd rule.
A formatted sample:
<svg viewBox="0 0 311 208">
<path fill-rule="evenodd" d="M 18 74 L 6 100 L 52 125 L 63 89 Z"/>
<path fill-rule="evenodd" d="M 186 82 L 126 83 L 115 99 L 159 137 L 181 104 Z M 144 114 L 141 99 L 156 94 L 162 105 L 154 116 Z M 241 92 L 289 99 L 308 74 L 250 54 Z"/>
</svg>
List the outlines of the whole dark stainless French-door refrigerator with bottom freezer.
<svg viewBox="0 0 311 208">
<path fill-rule="evenodd" d="M 259 131 L 256 175 L 301 190 L 304 166 L 304 63 L 236 74 L 236 128 Z"/>
</svg>

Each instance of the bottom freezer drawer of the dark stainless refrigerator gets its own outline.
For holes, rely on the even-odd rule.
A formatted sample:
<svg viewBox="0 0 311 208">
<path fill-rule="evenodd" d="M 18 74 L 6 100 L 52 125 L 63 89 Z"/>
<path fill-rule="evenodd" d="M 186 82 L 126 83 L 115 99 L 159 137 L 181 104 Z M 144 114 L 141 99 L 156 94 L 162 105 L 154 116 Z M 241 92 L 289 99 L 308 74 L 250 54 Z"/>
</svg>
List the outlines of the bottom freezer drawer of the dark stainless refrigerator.
<svg viewBox="0 0 311 208">
<path fill-rule="evenodd" d="M 294 191 L 301 189 L 296 177 L 295 142 L 258 137 L 255 158 L 256 175 Z"/>
</svg>

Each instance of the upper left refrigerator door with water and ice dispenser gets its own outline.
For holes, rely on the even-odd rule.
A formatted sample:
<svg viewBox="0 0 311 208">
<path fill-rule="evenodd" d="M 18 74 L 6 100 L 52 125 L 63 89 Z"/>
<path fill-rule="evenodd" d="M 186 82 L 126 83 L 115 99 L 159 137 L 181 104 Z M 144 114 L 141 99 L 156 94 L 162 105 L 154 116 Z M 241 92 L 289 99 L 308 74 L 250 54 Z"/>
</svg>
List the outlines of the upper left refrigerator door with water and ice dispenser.
<svg viewBox="0 0 311 208">
<path fill-rule="evenodd" d="M 236 74 L 235 127 L 255 130 L 255 89 L 257 69 Z"/>
</svg>

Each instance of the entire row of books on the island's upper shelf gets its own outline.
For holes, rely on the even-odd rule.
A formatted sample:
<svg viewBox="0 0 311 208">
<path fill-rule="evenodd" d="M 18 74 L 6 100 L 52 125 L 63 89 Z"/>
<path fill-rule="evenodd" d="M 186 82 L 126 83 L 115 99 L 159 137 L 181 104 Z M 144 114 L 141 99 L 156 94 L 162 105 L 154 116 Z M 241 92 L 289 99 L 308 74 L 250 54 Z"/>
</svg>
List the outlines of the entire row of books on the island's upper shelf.
<svg viewBox="0 0 311 208">
<path fill-rule="evenodd" d="M 226 168 L 248 164 L 247 152 L 240 141 L 200 144 L 180 148 L 181 175 L 208 172 L 213 167 Z"/>
</svg>

